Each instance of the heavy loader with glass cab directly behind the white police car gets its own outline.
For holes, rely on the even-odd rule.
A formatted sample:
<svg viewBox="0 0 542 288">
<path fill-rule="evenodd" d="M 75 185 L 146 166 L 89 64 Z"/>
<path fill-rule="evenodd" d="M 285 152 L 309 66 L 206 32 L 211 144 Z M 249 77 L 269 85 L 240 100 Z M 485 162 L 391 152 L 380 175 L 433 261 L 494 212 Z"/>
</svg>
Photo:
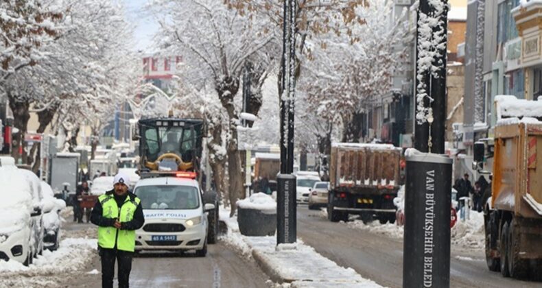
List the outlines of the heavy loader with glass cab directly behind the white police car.
<svg viewBox="0 0 542 288">
<path fill-rule="evenodd" d="M 139 176 L 145 178 L 182 178 L 193 175 L 206 204 L 215 209 L 209 212 L 208 243 L 215 243 L 218 234 L 218 197 L 207 187 L 206 158 L 202 158 L 206 126 L 203 119 L 174 117 L 141 119 L 132 133 L 139 140 Z M 183 173 L 185 172 L 185 173 Z"/>
</svg>

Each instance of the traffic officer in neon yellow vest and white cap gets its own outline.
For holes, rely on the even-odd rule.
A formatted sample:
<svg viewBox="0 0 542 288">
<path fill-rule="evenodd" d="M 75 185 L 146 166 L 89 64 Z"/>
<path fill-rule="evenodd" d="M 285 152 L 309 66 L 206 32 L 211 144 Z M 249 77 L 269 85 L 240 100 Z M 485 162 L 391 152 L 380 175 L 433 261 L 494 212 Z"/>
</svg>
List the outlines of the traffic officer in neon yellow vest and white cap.
<svg viewBox="0 0 542 288">
<path fill-rule="evenodd" d="M 98 197 L 91 215 L 92 223 L 98 226 L 103 288 L 113 287 L 115 260 L 118 263 L 119 288 L 129 287 L 135 230 L 145 222 L 141 200 L 128 191 L 128 182 L 128 176 L 117 174 L 113 190 Z"/>
</svg>

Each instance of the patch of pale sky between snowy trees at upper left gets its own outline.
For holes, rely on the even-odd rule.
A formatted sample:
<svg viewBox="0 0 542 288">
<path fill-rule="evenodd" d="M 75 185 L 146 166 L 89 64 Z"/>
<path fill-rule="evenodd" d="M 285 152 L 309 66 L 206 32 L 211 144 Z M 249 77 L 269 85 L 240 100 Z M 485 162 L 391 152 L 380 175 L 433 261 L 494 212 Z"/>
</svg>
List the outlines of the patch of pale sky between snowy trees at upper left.
<svg viewBox="0 0 542 288">
<path fill-rule="evenodd" d="M 123 0 L 126 5 L 126 17 L 135 27 L 134 50 L 152 51 L 152 36 L 158 30 L 158 23 L 145 11 L 148 0 Z"/>
</svg>

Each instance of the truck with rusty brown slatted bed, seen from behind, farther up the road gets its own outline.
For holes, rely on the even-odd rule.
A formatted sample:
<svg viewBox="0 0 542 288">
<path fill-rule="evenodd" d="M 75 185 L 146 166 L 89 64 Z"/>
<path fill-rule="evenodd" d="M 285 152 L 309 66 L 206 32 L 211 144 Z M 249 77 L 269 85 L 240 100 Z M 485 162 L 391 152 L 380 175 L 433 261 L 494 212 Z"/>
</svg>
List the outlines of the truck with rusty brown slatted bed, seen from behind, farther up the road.
<svg viewBox="0 0 542 288">
<path fill-rule="evenodd" d="M 400 182 L 401 148 L 388 144 L 334 143 L 331 147 L 330 221 L 360 215 L 367 223 L 376 217 L 394 223 Z"/>
</svg>

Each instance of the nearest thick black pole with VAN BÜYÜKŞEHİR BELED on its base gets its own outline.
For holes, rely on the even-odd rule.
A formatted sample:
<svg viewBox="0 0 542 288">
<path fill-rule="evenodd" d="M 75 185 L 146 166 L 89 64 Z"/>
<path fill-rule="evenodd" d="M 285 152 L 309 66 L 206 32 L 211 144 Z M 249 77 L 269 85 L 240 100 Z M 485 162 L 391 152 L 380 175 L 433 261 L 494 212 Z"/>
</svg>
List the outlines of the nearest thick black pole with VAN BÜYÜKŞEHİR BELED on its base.
<svg viewBox="0 0 542 288">
<path fill-rule="evenodd" d="M 403 287 L 449 287 L 452 159 L 445 153 L 447 0 L 419 0 L 416 125 L 406 155 Z"/>
</svg>

